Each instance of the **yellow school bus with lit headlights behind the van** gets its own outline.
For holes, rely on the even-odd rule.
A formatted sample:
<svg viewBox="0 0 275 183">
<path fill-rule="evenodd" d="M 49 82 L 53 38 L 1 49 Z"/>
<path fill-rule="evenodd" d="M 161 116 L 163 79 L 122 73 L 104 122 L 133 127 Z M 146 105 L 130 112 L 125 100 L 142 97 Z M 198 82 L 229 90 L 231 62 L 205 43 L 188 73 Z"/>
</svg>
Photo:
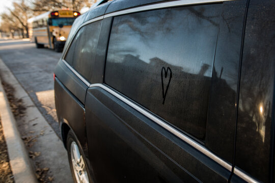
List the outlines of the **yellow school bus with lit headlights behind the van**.
<svg viewBox="0 0 275 183">
<path fill-rule="evenodd" d="M 72 10 L 50 11 L 28 20 L 29 35 L 37 48 L 44 46 L 61 52 L 69 35 L 71 26 L 80 15 Z"/>
</svg>

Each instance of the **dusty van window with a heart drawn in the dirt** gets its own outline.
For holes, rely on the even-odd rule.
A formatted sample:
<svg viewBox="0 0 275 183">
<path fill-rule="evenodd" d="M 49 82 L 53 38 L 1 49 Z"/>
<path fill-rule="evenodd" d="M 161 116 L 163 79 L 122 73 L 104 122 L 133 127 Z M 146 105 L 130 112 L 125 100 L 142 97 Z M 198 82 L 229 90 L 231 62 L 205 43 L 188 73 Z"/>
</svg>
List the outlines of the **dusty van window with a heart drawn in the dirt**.
<svg viewBox="0 0 275 183">
<path fill-rule="evenodd" d="M 203 140 L 221 4 L 114 18 L 105 83 Z"/>
</svg>

